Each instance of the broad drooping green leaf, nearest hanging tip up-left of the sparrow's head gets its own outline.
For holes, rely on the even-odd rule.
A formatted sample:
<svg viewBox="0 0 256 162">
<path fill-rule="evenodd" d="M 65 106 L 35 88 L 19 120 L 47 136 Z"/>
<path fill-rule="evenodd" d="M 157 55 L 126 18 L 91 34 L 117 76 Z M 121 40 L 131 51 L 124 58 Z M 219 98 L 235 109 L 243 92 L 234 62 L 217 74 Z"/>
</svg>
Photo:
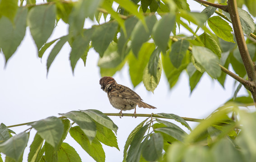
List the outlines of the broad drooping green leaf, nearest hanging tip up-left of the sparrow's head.
<svg viewBox="0 0 256 162">
<path fill-rule="evenodd" d="M 83 36 L 78 35 L 74 37 L 74 41 L 72 43 L 72 50 L 70 52 L 70 63 L 72 70 L 74 72 L 74 67 L 79 60 L 84 54 L 84 51 L 86 51 L 87 46 L 90 43 L 91 36 L 93 35 L 93 28 L 87 29 L 84 31 Z"/>
</svg>

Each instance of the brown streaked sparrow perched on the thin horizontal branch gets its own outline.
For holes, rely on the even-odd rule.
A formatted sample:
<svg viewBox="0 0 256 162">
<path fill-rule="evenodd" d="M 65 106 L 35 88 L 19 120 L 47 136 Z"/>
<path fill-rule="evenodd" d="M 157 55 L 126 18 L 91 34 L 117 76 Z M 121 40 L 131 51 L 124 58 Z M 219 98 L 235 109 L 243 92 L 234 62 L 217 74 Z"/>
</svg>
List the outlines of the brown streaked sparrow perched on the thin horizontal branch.
<svg viewBox="0 0 256 162">
<path fill-rule="evenodd" d="M 99 84 L 101 85 L 101 89 L 107 93 L 107 97 L 112 106 L 121 110 L 119 112 L 121 116 L 123 116 L 122 111 L 135 108 L 135 117 L 137 105 L 139 108 L 155 108 L 148 103 L 144 103 L 135 91 L 124 85 L 117 84 L 115 79 L 110 76 L 103 76 L 100 79 Z"/>
</svg>

